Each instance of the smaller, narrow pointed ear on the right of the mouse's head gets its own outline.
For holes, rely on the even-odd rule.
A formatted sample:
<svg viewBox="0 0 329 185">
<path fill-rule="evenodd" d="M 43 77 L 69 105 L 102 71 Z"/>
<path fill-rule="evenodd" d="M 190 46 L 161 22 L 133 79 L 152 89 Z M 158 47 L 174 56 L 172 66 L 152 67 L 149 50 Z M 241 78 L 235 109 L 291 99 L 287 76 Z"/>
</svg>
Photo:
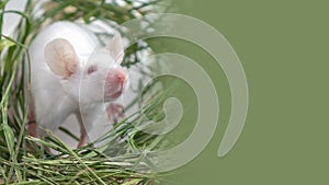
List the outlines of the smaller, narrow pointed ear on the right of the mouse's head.
<svg viewBox="0 0 329 185">
<path fill-rule="evenodd" d="M 115 33 L 111 42 L 107 44 L 106 49 L 117 63 L 121 63 L 124 57 L 124 48 L 121 35 Z"/>
</svg>

